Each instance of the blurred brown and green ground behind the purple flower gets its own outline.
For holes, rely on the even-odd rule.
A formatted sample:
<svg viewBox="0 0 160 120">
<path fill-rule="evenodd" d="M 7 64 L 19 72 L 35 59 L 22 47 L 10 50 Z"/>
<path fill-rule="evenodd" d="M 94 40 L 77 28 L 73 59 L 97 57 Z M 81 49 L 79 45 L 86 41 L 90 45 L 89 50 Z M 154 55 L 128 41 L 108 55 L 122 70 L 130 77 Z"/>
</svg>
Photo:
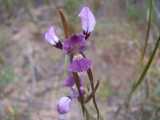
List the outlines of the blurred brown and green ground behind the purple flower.
<svg viewBox="0 0 160 120">
<path fill-rule="evenodd" d="M 86 54 L 93 60 L 94 78 L 100 80 L 96 97 L 104 120 L 159 120 L 160 53 L 145 78 L 147 88 L 141 85 L 130 109 L 122 107 L 117 114 L 141 73 L 149 1 L 0 0 L 0 120 L 58 120 L 56 103 L 69 93 L 63 87 L 64 55 L 47 44 L 43 34 L 54 25 L 64 39 L 58 8 L 72 31 L 81 32 L 78 13 L 84 5 L 97 20 Z M 151 25 L 145 61 L 159 33 L 160 0 L 153 0 Z M 66 120 L 81 120 L 79 111 L 75 102 Z"/>
</svg>

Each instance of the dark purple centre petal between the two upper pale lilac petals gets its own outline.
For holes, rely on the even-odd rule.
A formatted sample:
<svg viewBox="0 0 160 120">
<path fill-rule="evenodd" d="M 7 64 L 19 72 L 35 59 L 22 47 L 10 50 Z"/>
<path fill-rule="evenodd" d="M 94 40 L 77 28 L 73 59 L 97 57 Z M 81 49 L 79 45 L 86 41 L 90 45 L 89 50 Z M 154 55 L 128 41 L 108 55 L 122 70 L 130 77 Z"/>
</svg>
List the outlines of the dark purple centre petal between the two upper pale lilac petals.
<svg viewBox="0 0 160 120">
<path fill-rule="evenodd" d="M 86 49 L 86 41 L 85 36 L 79 34 L 79 35 L 73 35 L 69 39 L 65 40 L 63 43 L 63 50 L 65 53 L 70 52 L 81 52 Z"/>
</svg>

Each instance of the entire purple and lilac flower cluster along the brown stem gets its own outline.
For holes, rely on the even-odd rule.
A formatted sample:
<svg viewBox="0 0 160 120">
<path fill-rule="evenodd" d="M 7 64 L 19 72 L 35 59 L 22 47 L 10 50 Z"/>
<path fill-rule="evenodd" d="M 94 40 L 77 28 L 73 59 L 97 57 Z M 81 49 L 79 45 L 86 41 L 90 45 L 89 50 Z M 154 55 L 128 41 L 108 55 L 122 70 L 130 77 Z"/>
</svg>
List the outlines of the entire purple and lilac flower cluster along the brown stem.
<svg viewBox="0 0 160 120">
<path fill-rule="evenodd" d="M 69 112 L 73 99 L 81 99 L 80 102 L 83 106 L 83 96 L 85 91 L 83 79 L 80 74 L 88 72 L 88 70 L 91 69 L 91 60 L 85 57 L 84 51 L 87 48 L 87 40 L 91 32 L 94 30 L 96 20 L 88 7 L 83 7 L 78 16 L 81 20 L 83 29 L 81 33 L 73 34 L 63 42 L 60 41 L 56 35 L 56 31 L 53 26 L 51 26 L 45 33 L 45 39 L 49 44 L 61 49 L 70 57 L 70 63 L 67 67 L 68 77 L 64 80 L 64 86 L 71 89 L 71 95 L 60 98 L 57 104 L 57 111 L 59 114 Z M 93 90 L 93 94 L 94 92 L 95 90 Z M 94 96 L 93 94 L 91 94 L 91 96 Z"/>
</svg>

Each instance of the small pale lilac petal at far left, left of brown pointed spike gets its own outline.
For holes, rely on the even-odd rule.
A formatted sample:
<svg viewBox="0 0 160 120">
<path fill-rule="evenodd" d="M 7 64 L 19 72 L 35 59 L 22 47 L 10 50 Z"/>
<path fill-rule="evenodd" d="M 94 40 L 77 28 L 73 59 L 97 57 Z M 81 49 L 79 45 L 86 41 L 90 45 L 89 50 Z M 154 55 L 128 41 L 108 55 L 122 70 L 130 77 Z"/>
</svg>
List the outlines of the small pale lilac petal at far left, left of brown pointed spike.
<svg viewBox="0 0 160 120">
<path fill-rule="evenodd" d="M 51 45 L 56 45 L 59 42 L 59 38 L 56 35 L 55 28 L 51 26 L 44 34 L 46 41 Z"/>
</svg>

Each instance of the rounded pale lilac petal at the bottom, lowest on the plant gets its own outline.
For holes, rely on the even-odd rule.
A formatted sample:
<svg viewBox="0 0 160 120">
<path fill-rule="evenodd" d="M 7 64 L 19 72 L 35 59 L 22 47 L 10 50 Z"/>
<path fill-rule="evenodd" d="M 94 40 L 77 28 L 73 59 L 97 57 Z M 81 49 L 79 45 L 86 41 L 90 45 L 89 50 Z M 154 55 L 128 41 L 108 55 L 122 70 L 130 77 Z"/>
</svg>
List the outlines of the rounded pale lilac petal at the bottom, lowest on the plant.
<svg viewBox="0 0 160 120">
<path fill-rule="evenodd" d="M 59 114 L 68 113 L 71 107 L 71 98 L 62 97 L 57 104 L 57 111 Z"/>
</svg>

